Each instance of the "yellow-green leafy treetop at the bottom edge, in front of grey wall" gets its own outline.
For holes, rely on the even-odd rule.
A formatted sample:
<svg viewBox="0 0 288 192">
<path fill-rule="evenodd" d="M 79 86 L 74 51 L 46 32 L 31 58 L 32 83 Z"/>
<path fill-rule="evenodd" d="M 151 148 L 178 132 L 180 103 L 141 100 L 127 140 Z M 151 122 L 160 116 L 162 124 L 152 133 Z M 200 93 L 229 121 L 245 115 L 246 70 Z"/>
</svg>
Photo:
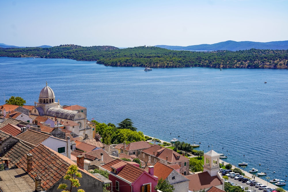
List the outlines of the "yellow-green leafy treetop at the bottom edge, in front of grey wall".
<svg viewBox="0 0 288 192">
<path fill-rule="evenodd" d="M 75 176 L 74 176 L 75 174 Z M 64 176 L 65 180 L 69 180 L 71 182 L 70 185 L 70 189 L 68 190 L 63 190 L 62 192 L 71 192 L 72 191 L 72 187 L 80 187 L 80 183 L 79 180 L 77 179 L 77 177 L 81 178 L 82 174 L 80 172 L 78 172 L 78 167 L 77 165 L 71 165 L 67 172 L 66 175 Z M 65 183 L 61 183 L 57 189 L 66 189 L 68 187 L 67 184 Z M 77 192 L 85 192 L 83 189 L 77 189 Z"/>
</svg>

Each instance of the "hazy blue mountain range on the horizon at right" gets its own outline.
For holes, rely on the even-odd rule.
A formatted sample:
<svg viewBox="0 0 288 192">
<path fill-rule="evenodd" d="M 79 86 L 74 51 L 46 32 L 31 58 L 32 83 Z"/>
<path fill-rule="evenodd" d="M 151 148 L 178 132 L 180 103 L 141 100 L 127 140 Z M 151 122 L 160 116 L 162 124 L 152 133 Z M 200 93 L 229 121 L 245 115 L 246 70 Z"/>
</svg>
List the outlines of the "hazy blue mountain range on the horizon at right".
<svg viewBox="0 0 288 192">
<path fill-rule="evenodd" d="M 170 45 L 155 45 L 170 50 L 195 50 L 195 51 L 217 51 L 217 50 L 249 50 L 249 49 L 271 49 L 271 50 L 288 50 L 288 41 L 271 41 L 267 43 L 253 41 L 224 41 L 214 44 L 190 45 L 187 47 L 170 46 Z"/>
</svg>

